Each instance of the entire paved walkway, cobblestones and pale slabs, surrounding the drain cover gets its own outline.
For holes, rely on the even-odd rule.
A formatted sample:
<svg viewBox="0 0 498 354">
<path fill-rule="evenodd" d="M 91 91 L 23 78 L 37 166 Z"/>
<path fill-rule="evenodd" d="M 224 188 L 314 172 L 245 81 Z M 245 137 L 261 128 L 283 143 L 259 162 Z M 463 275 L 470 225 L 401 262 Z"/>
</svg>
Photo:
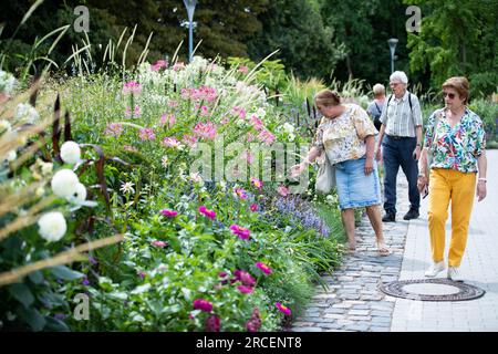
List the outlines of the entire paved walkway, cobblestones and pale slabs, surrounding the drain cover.
<svg viewBox="0 0 498 354">
<path fill-rule="evenodd" d="M 404 221 L 403 215 L 408 209 L 407 185 L 404 175 L 400 174 L 397 221 L 384 223 L 384 237 L 393 254 L 376 254 L 375 236 L 364 217 L 356 231 L 356 253 L 346 256 L 332 277 L 323 277 L 329 291 L 317 287 L 311 303 L 291 330 L 498 331 L 498 239 L 492 232 L 492 220 L 498 221 L 498 179 L 494 180 L 494 176 L 498 176 L 498 150 L 488 152 L 488 197 L 474 206 L 461 263 L 467 282 L 486 290 L 483 298 L 463 302 L 423 302 L 392 298 L 378 291 L 381 282 L 424 278 L 430 263 L 428 199 L 422 202 L 419 219 Z M 449 241 L 446 244 L 448 247 Z"/>
</svg>

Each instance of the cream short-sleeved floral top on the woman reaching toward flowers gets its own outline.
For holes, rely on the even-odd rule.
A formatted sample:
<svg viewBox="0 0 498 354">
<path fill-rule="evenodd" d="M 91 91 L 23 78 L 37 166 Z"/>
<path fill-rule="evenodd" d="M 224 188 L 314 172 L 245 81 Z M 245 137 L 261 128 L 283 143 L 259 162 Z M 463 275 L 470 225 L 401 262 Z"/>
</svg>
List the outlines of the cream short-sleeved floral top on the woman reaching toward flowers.
<svg viewBox="0 0 498 354">
<path fill-rule="evenodd" d="M 344 106 L 346 110 L 340 116 L 322 118 L 313 140 L 313 146 L 326 152 L 332 165 L 363 157 L 366 153 L 365 137 L 377 134 L 362 107 L 356 104 Z"/>
</svg>

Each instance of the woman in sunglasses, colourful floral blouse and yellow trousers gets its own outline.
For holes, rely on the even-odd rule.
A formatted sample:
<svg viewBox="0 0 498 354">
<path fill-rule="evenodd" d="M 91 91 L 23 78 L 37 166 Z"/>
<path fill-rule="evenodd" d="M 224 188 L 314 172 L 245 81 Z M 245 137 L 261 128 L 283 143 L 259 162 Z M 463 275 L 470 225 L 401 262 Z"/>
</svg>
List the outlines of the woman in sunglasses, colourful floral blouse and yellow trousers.
<svg viewBox="0 0 498 354">
<path fill-rule="evenodd" d="M 426 277 L 445 270 L 445 223 L 452 201 L 452 242 L 447 278 L 461 281 L 459 266 L 467 243 L 474 204 L 486 198 L 486 140 L 483 122 L 467 108 L 469 85 L 466 77 L 450 77 L 443 84 L 445 107 L 428 118 L 419 160 L 418 190 L 429 191 L 428 227 L 433 264 Z M 427 166 L 427 152 L 432 153 Z M 430 184 L 428 184 L 430 171 Z M 477 178 L 476 175 L 479 174 Z"/>
</svg>

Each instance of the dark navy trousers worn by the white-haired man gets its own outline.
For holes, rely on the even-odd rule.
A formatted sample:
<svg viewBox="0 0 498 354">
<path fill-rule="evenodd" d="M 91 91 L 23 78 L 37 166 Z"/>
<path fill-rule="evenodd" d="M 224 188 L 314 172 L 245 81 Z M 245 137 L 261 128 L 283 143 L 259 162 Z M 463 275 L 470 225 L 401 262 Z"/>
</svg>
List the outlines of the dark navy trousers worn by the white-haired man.
<svg viewBox="0 0 498 354">
<path fill-rule="evenodd" d="M 415 137 L 394 138 L 385 135 L 382 142 L 384 159 L 384 210 L 396 214 L 396 177 L 400 166 L 408 180 L 411 208 L 418 210 L 421 194 L 417 189 L 418 166 L 413 158 L 417 139 Z"/>
</svg>

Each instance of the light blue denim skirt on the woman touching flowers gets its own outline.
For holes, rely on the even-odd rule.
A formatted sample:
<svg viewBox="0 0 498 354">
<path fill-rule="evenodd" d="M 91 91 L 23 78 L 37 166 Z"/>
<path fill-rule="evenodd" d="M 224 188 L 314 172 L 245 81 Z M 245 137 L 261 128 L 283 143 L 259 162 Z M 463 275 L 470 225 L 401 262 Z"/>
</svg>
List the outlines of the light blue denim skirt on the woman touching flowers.
<svg viewBox="0 0 498 354">
<path fill-rule="evenodd" d="M 335 164 L 335 179 L 341 210 L 361 208 L 382 202 L 377 163 L 374 170 L 365 175 L 366 156 Z"/>
</svg>

